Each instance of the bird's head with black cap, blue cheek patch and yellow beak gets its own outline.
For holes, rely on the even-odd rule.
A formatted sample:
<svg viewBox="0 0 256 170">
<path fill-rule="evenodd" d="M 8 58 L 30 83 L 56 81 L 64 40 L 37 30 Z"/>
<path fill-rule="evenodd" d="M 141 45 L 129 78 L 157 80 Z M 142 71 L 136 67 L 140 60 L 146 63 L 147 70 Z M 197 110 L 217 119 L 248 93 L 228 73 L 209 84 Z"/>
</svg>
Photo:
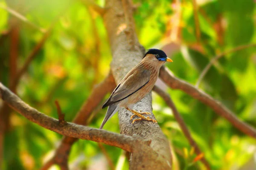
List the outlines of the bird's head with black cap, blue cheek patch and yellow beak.
<svg viewBox="0 0 256 170">
<path fill-rule="evenodd" d="M 152 62 L 160 62 L 163 65 L 164 62 L 173 62 L 172 59 L 168 58 L 162 50 L 151 48 L 149 49 L 143 59 L 151 60 Z"/>
</svg>

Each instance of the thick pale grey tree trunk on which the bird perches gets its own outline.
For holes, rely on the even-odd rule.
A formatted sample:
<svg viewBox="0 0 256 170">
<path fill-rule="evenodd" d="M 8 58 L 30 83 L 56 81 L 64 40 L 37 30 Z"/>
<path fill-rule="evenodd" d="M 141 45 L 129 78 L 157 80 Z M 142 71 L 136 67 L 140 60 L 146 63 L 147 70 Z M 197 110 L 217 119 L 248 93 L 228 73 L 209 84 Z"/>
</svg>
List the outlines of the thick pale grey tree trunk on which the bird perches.
<svg viewBox="0 0 256 170">
<path fill-rule="evenodd" d="M 127 5 L 130 5 L 128 3 L 125 3 L 125 10 L 132 10 L 131 6 L 127 8 Z M 133 31 L 135 29 L 130 28 L 134 27 L 134 23 L 131 23 L 133 21 L 130 20 L 127 23 L 127 18 L 130 17 L 125 17 L 125 14 L 131 13 L 124 12 L 122 1 L 108 0 L 106 1 L 105 8 L 107 11 L 104 14 L 104 22 L 108 31 L 113 56 L 111 69 L 116 84 L 118 84 L 128 71 L 140 62 L 145 50 L 138 42 L 137 35 Z M 134 106 L 134 109 L 152 113 L 151 93 L 138 102 Z M 159 125 L 147 121 L 135 122 L 132 125 L 130 120 L 131 115 L 132 113 L 126 109 L 119 110 L 120 133 L 128 136 L 138 135 L 146 141 L 151 141 L 151 143 L 150 147 L 140 149 L 143 153 L 136 151 L 132 153 L 130 157 L 130 169 L 170 169 L 172 157 L 169 142 Z M 154 115 L 151 114 L 150 117 L 152 118 Z"/>
</svg>

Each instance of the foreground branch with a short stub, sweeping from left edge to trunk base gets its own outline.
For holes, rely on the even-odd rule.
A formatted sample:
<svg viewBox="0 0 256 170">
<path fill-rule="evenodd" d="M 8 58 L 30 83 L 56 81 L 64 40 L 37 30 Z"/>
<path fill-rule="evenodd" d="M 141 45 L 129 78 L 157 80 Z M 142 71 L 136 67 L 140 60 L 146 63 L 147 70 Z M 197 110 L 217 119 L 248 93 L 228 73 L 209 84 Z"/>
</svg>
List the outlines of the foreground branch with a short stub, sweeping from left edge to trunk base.
<svg viewBox="0 0 256 170">
<path fill-rule="evenodd" d="M 132 153 L 135 160 L 131 162 L 131 167 L 138 167 L 138 169 L 152 167 L 156 169 L 159 165 L 163 164 L 159 157 L 160 153 L 152 150 L 151 140 L 145 140 L 140 136 L 126 136 L 69 122 L 66 125 L 60 125 L 57 119 L 51 118 L 27 105 L 2 83 L 0 83 L 0 97 L 15 111 L 46 129 L 64 136 L 102 142 Z M 169 167 L 171 166 L 171 163 L 165 163 L 169 164 Z M 48 167 L 49 164 L 47 164 Z M 61 165 L 61 167 L 67 169 L 67 166 Z M 159 170 L 165 170 L 166 168 L 164 167 Z"/>
</svg>

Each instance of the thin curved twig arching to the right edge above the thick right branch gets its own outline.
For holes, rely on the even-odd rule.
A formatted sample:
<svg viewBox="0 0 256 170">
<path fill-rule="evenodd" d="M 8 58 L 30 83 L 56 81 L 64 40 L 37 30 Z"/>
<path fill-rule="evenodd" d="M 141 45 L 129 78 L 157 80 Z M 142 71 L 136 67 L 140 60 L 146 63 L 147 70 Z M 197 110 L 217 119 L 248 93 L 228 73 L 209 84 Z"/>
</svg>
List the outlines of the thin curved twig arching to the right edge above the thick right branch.
<svg viewBox="0 0 256 170">
<path fill-rule="evenodd" d="M 207 72 L 209 71 L 209 69 L 211 68 L 211 66 L 214 64 L 215 61 L 217 61 L 218 59 L 220 59 L 221 57 L 224 57 L 227 54 L 236 52 L 236 51 L 240 51 L 243 50 L 245 48 L 249 48 L 249 47 L 256 47 L 256 44 L 248 44 L 248 45 L 240 45 L 236 48 L 233 48 L 231 50 L 225 51 L 224 53 L 221 53 L 217 56 L 215 56 L 214 58 L 211 59 L 211 61 L 207 64 L 207 66 L 204 68 L 204 70 L 202 71 L 202 73 L 200 74 L 198 81 L 196 82 L 195 87 L 198 88 L 198 86 L 200 85 L 202 79 L 204 78 L 204 76 L 207 74 Z"/>
</svg>

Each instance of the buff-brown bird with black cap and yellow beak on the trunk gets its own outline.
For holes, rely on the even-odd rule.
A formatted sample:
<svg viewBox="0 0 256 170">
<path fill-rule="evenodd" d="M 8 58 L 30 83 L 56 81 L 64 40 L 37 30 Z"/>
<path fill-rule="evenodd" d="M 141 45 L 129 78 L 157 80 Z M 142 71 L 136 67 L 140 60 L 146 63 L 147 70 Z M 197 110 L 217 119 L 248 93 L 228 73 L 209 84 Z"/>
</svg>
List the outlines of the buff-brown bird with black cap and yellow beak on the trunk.
<svg viewBox="0 0 256 170">
<path fill-rule="evenodd" d="M 143 114 L 148 115 L 151 113 L 139 113 L 133 110 L 133 106 L 152 90 L 157 81 L 160 68 L 166 61 L 173 62 L 172 59 L 168 58 L 165 52 L 160 49 L 151 48 L 145 53 L 143 59 L 125 75 L 102 106 L 102 109 L 108 107 L 108 110 L 99 127 L 100 129 L 103 128 L 105 123 L 119 108 L 125 108 L 133 113 L 130 118 L 131 120 L 134 116 L 139 117 L 138 119 L 134 119 L 132 124 L 140 120 L 157 122 L 154 119 L 150 119 L 148 116 L 143 116 Z"/>
</svg>

